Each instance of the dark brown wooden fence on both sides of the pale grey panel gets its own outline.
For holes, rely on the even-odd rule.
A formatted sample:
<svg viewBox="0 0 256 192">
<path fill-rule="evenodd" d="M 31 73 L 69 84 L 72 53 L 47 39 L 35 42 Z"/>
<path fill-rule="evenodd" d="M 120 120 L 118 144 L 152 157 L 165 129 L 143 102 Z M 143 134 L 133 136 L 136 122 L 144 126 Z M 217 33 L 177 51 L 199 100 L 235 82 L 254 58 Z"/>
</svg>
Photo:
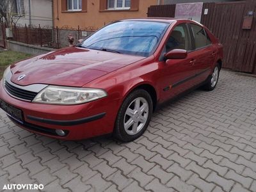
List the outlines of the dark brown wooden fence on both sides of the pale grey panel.
<svg viewBox="0 0 256 192">
<path fill-rule="evenodd" d="M 157 8 L 158 7 L 158 8 Z M 174 5 L 150 6 L 148 17 L 166 17 Z M 207 15 L 204 10 L 208 9 Z M 243 18 L 254 12 L 252 29 L 242 29 Z M 174 17 L 175 8 L 168 13 Z M 256 1 L 204 3 L 201 22 L 216 35 L 224 47 L 223 67 L 256 74 Z"/>
</svg>

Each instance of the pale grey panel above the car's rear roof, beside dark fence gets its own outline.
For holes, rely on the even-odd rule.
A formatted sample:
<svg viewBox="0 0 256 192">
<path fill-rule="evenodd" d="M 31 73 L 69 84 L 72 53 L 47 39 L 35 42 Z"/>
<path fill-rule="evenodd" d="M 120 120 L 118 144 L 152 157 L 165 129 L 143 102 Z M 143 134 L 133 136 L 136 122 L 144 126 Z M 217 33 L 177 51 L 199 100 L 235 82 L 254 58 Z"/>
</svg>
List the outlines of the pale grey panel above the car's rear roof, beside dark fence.
<svg viewBox="0 0 256 192">
<path fill-rule="evenodd" d="M 175 18 L 192 19 L 201 21 L 202 9 L 204 3 L 180 3 L 176 4 Z"/>
</svg>

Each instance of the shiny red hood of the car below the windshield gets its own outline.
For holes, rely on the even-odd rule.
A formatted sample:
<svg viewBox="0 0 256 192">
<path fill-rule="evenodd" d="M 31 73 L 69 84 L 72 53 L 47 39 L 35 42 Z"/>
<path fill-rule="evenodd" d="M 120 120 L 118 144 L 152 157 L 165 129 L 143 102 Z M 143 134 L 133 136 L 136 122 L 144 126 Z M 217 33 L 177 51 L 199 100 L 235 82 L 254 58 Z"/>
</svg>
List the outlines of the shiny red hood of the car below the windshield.
<svg viewBox="0 0 256 192">
<path fill-rule="evenodd" d="M 144 57 L 113 52 L 67 47 L 20 61 L 11 66 L 13 83 L 83 86 Z M 22 75 L 23 79 L 18 80 Z"/>
</svg>

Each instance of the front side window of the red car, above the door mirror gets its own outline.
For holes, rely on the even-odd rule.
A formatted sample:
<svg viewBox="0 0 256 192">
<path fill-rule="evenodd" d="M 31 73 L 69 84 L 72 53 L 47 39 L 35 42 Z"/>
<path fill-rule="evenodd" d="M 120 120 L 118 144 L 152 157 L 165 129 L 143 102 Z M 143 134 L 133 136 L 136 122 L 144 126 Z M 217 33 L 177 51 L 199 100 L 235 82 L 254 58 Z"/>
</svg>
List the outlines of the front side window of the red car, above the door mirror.
<svg viewBox="0 0 256 192">
<path fill-rule="evenodd" d="M 168 38 L 165 48 L 166 52 L 172 49 L 185 49 L 187 51 L 191 50 L 189 31 L 186 24 L 180 24 L 176 26 L 170 37 Z"/>
</svg>

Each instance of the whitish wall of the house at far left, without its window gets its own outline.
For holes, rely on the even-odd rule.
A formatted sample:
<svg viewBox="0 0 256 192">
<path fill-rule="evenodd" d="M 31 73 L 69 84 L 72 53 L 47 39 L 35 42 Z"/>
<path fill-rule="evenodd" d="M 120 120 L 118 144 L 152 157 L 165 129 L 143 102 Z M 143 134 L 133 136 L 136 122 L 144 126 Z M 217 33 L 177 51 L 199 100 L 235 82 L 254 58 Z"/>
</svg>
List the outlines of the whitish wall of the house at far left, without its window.
<svg viewBox="0 0 256 192">
<path fill-rule="evenodd" d="M 52 0 L 30 0 L 31 26 L 52 27 Z M 17 24 L 29 25 L 29 0 L 24 0 L 25 17 L 20 17 Z"/>
</svg>

